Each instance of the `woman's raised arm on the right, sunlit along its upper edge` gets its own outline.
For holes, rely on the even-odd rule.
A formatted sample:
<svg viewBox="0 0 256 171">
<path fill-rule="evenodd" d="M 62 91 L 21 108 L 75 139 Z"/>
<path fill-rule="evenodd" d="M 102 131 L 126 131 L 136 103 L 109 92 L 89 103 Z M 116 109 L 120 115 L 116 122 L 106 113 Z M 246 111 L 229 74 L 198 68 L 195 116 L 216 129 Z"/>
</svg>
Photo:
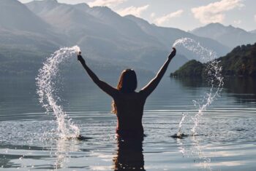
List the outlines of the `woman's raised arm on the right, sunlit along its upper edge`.
<svg viewBox="0 0 256 171">
<path fill-rule="evenodd" d="M 140 90 L 140 92 L 145 96 L 145 98 L 147 98 L 148 95 L 150 95 L 151 92 L 155 90 L 155 88 L 161 81 L 162 76 L 165 75 L 165 71 L 167 70 L 170 60 L 172 60 L 175 55 L 176 55 L 176 49 L 173 47 L 173 52 L 170 53 L 170 55 L 168 56 L 168 59 L 166 60 L 164 65 L 162 65 L 162 68 L 160 68 L 160 70 L 158 71 L 157 76 L 155 76 L 154 79 L 149 81 L 149 83 Z"/>
</svg>

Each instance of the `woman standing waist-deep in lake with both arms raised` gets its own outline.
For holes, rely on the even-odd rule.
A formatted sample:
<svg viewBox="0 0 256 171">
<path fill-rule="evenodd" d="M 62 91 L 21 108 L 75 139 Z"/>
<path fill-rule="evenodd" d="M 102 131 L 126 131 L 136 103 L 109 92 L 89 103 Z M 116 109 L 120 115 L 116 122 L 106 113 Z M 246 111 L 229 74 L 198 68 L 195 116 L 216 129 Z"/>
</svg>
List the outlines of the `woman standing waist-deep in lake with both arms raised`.
<svg viewBox="0 0 256 171">
<path fill-rule="evenodd" d="M 143 137 L 142 116 L 146 98 L 159 84 L 164 76 L 170 60 L 176 55 L 176 49 L 170 53 L 162 68 L 160 68 L 157 76 L 154 77 L 143 89 L 135 92 L 137 88 L 137 76 L 135 71 L 127 69 L 122 71 L 118 85 L 116 88 L 111 87 L 105 81 L 101 81 L 93 71 L 86 65 L 83 57 L 78 55 L 78 60 L 86 69 L 97 86 L 113 98 L 113 113 L 117 116 L 116 133 L 119 137 Z"/>
</svg>

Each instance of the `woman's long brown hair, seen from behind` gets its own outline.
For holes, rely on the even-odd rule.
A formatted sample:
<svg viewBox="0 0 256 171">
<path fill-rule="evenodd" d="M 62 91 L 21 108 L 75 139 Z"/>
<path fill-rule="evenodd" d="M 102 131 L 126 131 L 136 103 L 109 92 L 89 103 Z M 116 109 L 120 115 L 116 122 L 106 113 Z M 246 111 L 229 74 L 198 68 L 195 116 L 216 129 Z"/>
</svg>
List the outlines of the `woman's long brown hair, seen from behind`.
<svg viewBox="0 0 256 171">
<path fill-rule="evenodd" d="M 137 76 L 135 71 L 132 69 L 122 71 L 116 88 L 123 93 L 135 92 L 137 88 Z M 117 114 L 114 101 L 112 102 L 112 113 Z"/>
</svg>

